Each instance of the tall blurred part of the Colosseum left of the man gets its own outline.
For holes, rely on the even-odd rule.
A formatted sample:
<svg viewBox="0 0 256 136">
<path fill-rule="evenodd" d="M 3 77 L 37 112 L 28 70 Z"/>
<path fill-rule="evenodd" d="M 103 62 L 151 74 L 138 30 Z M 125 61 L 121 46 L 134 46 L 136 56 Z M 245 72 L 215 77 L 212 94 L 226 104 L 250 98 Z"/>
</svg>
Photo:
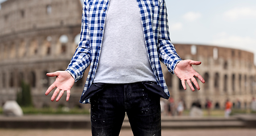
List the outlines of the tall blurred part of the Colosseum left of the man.
<svg viewBox="0 0 256 136">
<path fill-rule="evenodd" d="M 8 0 L 0 10 L 0 104 L 15 100 L 20 82 L 31 85 L 35 107 L 83 106 L 83 82 L 72 88 L 71 101 L 51 103 L 44 92 L 55 78 L 46 73 L 65 70 L 80 37 L 80 0 Z"/>
</svg>

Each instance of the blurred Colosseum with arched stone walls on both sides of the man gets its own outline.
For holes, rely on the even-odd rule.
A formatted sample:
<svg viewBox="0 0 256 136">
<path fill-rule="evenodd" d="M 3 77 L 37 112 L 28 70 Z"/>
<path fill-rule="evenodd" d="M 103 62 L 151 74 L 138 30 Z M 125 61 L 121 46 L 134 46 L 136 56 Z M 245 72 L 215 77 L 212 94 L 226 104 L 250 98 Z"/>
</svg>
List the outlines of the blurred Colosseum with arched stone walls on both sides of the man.
<svg viewBox="0 0 256 136">
<path fill-rule="evenodd" d="M 80 0 L 7 0 L 0 10 L 0 106 L 16 100 L 20 82 L 31 86 L 32 101 L 41 107 L 88 107 L 80 104 L 85 78 L 75 83 L 68 102 L 51 102 L 45 96 L 55 78 L 46 73 L 65 70 L 80 38 L 82 5 Z M 249 108 L 255 96 L 254 54 L 219 46 L 174 44 L 183 59 L 201 61 L 194 66 L 205 79 L 201 90 L 183 90 L 180 80 L 163 66 L 164 78 L 175 101 L 182 99 L 186 108 L 200 100 L 212 101 L 213 108 L 224 108 L 226 99 Z M 88 73 L 88 72 L 87 72 Z M 86 74 L 85 72 L 85 76 Z M 188 88 L 188 87 L 187 87 Z"/>
</svg>

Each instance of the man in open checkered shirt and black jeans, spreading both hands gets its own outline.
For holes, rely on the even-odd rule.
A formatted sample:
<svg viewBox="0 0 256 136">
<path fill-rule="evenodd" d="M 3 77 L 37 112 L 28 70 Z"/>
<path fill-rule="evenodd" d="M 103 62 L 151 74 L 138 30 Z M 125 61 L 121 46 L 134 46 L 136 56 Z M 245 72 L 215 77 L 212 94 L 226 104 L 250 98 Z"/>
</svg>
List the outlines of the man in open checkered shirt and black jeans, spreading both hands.
<svg viewBox="0 0 256 136">
<path fill-rule="evenodd" d="M 92 135 L 119 135 L 125 113 L 134 135 L 161 135 L 160 97 L 170 96 L 160 66 L 162 61 L 185 87 L 200 89 L 192 65 L 201 62 L 177 56 L 171 44 L 164 0 L 85 0 L 81 37 L 65 71 L 46 95 L 60 100 L 90 65 L 80 103 L 91 104 Z"/>
</svg>

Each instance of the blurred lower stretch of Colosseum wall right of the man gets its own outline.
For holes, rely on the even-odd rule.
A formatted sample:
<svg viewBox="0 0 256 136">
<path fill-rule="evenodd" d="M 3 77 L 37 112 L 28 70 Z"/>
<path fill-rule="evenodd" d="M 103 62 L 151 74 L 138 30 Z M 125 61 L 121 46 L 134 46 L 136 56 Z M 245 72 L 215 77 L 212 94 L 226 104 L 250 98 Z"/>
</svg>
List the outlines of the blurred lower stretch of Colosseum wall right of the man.
<svg viewBox="0 0 256 136">
<path fill-rule="evenodd" d="M 212 108 L 223 109 L 229 99 L 234 108 L 250 108 L 251 99 L 256 95 L 253 53 L 208 45 L 175 44 L 175 48 L 182 59 L 202 62 L 193 68 L 205 79 L 204 84 L 197 79 L 201 90 L 193 92 L 188 85 L 187 90 L 184 90 L 180 79 L 163 69 L 168 89 L 175 101 L 181 99 L 185 107 L 190 108 L 196 101 L 200 101 L 204 107 L 209 99 Z"/>
</svg>

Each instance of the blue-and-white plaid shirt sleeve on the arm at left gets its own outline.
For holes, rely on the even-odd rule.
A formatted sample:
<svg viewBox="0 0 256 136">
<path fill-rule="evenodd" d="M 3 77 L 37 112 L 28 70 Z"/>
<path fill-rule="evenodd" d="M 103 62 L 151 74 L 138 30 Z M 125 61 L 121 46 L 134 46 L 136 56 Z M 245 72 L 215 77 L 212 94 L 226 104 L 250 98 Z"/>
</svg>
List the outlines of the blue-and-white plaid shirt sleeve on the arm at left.
<svg viewBox="0 0 256 136">
<path fill-rule="evenodd" d="M 84 1 L 86 2 L 86 1 Z M 71 62 L 68 65 L 66 71 L 73 76 L 75 81 L 82 78 L 85 69 L 90 65 L 92 61 L 90 55 L 90 41 L 89 41 L 89 25 L 88 25 L 88 5 L 84 4 L 82 10 L 82 23 L 81 23 L 81 36 L 79 45 L 76 48 L 76 52 L 73 55 Z"/>
</svg>

